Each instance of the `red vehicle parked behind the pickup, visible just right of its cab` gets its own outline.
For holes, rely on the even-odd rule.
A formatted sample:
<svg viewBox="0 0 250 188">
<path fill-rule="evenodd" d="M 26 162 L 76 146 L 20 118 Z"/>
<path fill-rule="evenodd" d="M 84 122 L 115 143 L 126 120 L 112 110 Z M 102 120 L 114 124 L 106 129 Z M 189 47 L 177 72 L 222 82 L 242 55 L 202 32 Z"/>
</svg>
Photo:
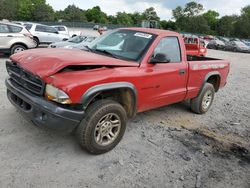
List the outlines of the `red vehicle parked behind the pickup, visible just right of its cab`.
<svg viewBox="0 0 250 188">
<path fill-rule="evenodd" d="M 206 56 L 207 48 L 205 43 L 198 37 L 185 37 L 184 42 L 187 55 Z"/>
</svg>

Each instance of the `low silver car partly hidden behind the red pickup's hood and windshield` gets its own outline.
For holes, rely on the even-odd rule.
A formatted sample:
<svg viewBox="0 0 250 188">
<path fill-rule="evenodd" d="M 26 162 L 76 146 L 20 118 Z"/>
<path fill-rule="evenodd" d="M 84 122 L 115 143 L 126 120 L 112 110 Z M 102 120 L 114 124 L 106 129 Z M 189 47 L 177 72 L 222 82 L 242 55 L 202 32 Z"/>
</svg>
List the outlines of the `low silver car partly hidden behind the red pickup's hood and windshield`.
<svg viewBox="0 0 250 188">
<path fill-rule="evenodd" d="M 94 36 L 75 36 L 64 42 L 56 42 L 49 45 L 48 48 L 68 48 L 68 49 L 85 49 L 96 37 Z"/>
</svg>

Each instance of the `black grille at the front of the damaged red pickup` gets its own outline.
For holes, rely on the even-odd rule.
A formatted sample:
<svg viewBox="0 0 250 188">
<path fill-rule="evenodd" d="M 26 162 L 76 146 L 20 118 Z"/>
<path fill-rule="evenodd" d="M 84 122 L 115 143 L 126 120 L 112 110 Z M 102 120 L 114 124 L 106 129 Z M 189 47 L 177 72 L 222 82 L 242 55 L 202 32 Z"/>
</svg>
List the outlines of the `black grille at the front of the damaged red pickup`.
<svg viewBox="0 0 250 188">
<path fill-rule="evenodd" d="M 43 95 L 45 84 L 39 77 L 22 69 L 15 62 L 6 61 L 6 68 L 10 78 L 17 84 L 36 95 Z"/>
</svg>

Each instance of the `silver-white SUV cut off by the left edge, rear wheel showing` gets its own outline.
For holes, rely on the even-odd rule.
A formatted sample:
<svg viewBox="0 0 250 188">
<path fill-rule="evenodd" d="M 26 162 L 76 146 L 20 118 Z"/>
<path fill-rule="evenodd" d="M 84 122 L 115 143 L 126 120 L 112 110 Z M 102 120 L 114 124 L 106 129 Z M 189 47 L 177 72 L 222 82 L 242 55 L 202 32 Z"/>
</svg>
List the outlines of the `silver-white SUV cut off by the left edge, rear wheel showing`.
<svg viewBox="0 0 250 188">
<path fill-rule="evenodd" d="M 35 48 L 31 33 L 23 26 L 0 22 L 0 52 L 14 54 Z"/>
</svg>

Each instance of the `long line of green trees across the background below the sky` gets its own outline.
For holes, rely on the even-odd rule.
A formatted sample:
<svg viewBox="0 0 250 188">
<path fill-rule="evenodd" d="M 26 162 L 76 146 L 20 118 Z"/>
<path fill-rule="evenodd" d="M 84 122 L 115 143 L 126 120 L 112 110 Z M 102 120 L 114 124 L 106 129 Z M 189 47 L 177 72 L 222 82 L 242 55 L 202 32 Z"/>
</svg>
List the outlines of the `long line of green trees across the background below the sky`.
<svg viewBox="0 0 250 188">
<path fill-rule="evenodd" d="M 117 12 L 108 15 L 99 6 L 83 10 L 69 5 L 55 11 L 46 0 L 0 0 L 0 20 L 18 21 L 70 21 L 100 24 L 140 26 L 143 20 L 154 20 L 162 29 L 227 37 L 250 38 L 250 5 L 243 7 L 240 15 L 220 17 L 214 10 L 204 11 L 202 4 L 189 2 L 172 10 L 171 20 L 161 20 L 153 7 L 143 12 Z"/>
</svg>

